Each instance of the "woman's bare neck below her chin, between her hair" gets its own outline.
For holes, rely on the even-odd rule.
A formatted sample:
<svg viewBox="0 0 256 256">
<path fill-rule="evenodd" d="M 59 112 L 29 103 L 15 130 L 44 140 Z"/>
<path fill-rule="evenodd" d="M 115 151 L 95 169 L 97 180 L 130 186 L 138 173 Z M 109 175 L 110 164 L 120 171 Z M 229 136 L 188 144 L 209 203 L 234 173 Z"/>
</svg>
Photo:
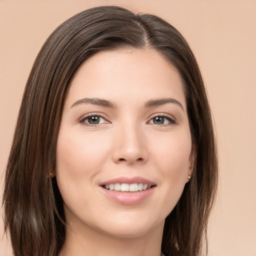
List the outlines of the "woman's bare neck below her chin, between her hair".
<svg viewBox="0 0 256 256">
<path fill-rule="evenodd" d="M 60 256 L 160 256 L 163 224 L 136 237 L 118 237 L 89 226 L 66 228 Z"/>
</svg>

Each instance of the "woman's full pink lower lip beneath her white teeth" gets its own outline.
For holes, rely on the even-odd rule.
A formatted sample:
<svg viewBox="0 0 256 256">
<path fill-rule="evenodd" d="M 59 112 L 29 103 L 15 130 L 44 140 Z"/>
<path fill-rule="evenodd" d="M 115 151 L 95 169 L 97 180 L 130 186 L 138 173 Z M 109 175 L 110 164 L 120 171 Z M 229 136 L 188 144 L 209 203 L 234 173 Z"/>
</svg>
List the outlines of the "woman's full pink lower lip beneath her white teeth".
<svg viewBox="0 0 256 256">
<path fill-rule="evenodd" d="M 122 191 L 115 191 L 115 190 L 108 190 L 103 187 L 100 187 L 104 194 L 114 202 L 120 204 L 138 204 L 145 200 L 147 197 L 151 195 L 155 186 L 137 192 L 122 192 Z"/>
</svg>

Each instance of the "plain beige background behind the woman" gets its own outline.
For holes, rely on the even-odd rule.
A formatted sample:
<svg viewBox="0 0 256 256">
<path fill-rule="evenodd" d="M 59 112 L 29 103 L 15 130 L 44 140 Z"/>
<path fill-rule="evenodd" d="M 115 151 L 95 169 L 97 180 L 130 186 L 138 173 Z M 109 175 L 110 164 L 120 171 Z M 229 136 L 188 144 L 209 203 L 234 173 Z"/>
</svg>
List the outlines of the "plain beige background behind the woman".
<svg viewBox="0 0 256 256">
<path fill-rule="evenodd" d="M 0 0 L 0 197 L 15 119 L 37 52 L 66 18 L 102 4 L 160 15 L 188 40 L 207 86 L 219 144 L 209 255 L 255 256 L 256 0 Z M 0 256 L 9 255 L 3 237 Z"/>
</svg>

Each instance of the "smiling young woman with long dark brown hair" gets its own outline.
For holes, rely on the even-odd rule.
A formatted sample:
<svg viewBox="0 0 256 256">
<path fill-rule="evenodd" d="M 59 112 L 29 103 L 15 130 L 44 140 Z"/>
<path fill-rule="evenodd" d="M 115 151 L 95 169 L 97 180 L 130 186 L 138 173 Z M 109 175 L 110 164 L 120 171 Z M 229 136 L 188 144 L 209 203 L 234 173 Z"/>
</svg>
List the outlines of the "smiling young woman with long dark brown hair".
<svg viewBox="0 0 256 256">
<path fill-rule="evenodd" d="M 102 6 L 49 36 L 6 168 L 15 256 L 202 255 L 216 182 L 203 81 L 174 27 Z"/>
</svg>

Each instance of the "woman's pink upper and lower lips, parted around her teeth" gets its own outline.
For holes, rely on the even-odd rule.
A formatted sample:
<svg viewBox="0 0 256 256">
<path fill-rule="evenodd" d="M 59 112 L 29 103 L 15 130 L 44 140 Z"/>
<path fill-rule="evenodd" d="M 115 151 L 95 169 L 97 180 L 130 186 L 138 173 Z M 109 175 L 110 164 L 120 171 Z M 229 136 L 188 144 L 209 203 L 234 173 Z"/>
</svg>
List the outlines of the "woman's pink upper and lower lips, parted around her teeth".
<svg viewBox="0 0 256 256">
<path fill-rule="evenodd" d="M 136 192 L 123 192 L 123 191 L 115 191 L 108 190 L 103 187 L 103 185 L 114 184 L 114 183 L 143 183 L 150 185 L 149 189 L 136 191 Z M 99 189 L 104 193 L 104 195 L 109 198 L 111 201 L 114 201 L 119 204 L 138 204 L 143 202 L 146 198 L 148 198 L 155 189 L 155 184 L 152 181 L 149 181 L 142 177 L 119 177 L 115 179 L 110 179 L 100 183 Z"/>
</svg>

